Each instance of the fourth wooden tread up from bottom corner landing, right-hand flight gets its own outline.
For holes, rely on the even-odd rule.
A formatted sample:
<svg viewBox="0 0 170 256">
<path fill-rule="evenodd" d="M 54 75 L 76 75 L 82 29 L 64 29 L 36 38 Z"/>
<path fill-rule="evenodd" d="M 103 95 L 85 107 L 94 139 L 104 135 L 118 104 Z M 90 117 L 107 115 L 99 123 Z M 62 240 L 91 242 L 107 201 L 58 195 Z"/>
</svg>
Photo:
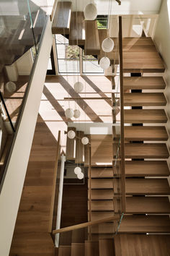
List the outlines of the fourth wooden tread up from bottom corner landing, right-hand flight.
<svg viewBox="0 0 170 256">
<path fill-rule="evenodd" d="M 166 161 L 125 161 L 126 176 L 169 176 Z"/>
</svg>

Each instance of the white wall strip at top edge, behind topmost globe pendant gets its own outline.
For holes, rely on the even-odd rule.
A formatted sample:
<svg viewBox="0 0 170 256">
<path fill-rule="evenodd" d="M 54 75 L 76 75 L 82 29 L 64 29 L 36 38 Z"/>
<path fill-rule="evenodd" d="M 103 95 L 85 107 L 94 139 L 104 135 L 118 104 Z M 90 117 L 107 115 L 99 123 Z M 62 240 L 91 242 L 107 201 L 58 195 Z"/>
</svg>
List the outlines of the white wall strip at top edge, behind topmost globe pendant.
<svg viewBox="0 0 170 256">
<path fill-rule="evenodd" d="M 68 1 L 68 0 L 65 0 Z M 111 14 L 157 14 L 161 7 L 161 0 L 121 0 L 121 6 L 112 0 Z M 109 14 L 110 0 L 93 0 L 97 4 L 98 14 Z M 83 11 L 91 0 L 73 0 L 73 10 Z M 77 7 L 77 8 L 76 8 Z"/>
</svg>

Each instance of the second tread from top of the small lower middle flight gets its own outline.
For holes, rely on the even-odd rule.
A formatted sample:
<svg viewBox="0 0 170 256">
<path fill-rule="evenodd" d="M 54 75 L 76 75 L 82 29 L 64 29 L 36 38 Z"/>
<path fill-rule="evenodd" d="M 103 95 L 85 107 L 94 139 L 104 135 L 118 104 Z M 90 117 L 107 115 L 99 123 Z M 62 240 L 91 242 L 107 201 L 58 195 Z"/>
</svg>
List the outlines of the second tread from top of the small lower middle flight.
<svg viewBox="0 0 170 256">
<path fill-rule="evenodd" d="M 91 179 L 91 189 L 112 189 L 112 179 Z"/>
</svg>

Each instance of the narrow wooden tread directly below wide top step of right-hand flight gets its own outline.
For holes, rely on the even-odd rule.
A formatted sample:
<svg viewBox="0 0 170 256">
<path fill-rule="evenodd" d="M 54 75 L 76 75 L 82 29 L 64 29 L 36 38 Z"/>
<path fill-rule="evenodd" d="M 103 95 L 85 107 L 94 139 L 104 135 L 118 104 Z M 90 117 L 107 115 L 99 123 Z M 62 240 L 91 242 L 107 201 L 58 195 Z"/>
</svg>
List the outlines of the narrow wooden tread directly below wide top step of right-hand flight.
<svg viewBox="0 0 170 256">
<path fill-rule="evenodd" d="M 166 88 L 163 77 L 123 77 L 124 90 L 163 90 Z"/>
</svg>

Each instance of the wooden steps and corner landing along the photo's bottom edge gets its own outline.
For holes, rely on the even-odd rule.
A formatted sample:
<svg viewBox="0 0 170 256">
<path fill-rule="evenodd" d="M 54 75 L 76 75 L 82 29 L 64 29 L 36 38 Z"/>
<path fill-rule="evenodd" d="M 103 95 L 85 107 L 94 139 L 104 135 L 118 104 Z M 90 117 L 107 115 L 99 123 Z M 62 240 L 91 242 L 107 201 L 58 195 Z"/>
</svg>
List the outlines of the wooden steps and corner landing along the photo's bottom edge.
<svg viewBox="0 0 170 256">
<path fill-rule="evenodd" d="M 170 252 L 169 239 L 160 234 L 118 234 L 112 239 L 61 245 L 58 256 L 165 256 Z"/>
</svg>

